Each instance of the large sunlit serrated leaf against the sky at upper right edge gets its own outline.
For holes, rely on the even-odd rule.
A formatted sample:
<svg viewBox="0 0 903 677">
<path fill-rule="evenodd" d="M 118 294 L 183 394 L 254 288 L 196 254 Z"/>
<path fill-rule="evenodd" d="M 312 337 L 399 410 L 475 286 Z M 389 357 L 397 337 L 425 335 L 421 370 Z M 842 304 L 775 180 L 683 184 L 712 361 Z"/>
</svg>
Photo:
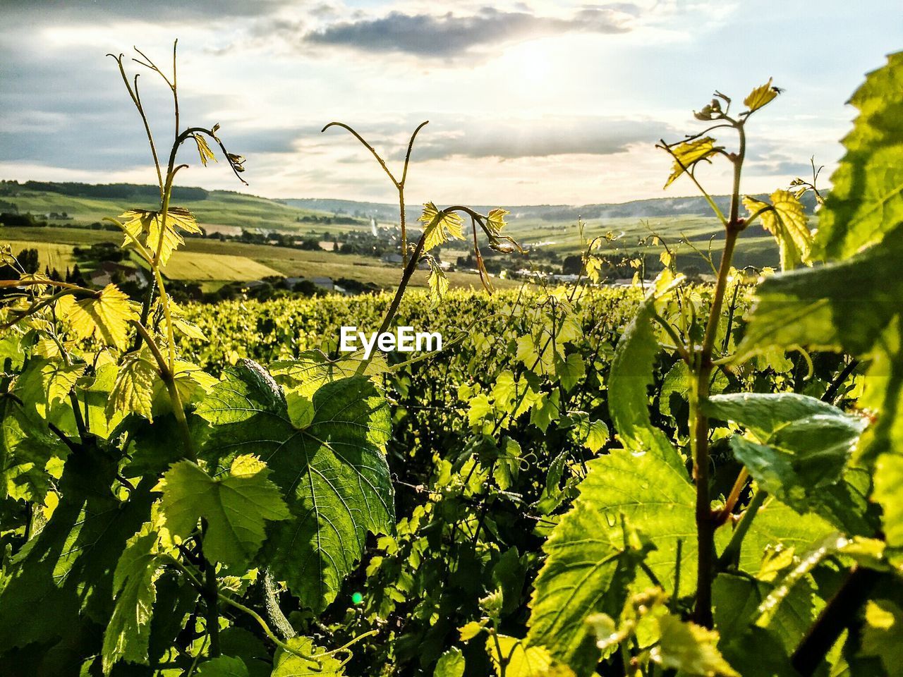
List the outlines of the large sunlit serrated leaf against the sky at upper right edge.
<svg viewBox="0 0 903 677">
<path fill-rule="evenodd" d="M 850 103 L 859 110 L 846 154 L 819 212 L 814 252 L 847 258 L 886 239 L 903 221 L 903 52 L 872 71 Z M 890 278 L 893 279 L 893 278 Z"/>
</svg>

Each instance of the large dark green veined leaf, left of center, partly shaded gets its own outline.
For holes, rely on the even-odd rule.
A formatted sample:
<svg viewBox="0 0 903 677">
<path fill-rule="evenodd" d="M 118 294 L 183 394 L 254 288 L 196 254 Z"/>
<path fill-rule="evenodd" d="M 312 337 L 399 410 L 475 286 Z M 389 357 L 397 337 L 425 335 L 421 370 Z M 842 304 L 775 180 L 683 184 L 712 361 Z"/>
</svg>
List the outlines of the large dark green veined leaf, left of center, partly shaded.
<svg viewBox="0 0 903 677">
<path fill-rule="evenodd" d="M 226 373 L 197 413 L 214 423 L 201 455 L 222 464 L 252 452 L 273 470 L 291 519 L 273 524 L 265 556 L 304 605 L 322 609 L 363 552 L 367 533 L 391 533 L 394 492 L 384 449 L 386 400 L 366 376 L 322 385 L 309 426 L 293 424 L 284 396 L 260 366 Z"/>
</svg>

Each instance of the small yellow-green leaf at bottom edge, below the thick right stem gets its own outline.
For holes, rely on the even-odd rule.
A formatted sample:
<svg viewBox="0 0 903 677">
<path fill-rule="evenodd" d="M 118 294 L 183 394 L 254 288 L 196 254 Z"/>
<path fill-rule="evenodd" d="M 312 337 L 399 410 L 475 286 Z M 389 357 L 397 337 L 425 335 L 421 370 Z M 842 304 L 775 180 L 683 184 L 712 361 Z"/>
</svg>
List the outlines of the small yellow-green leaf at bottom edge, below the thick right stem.
<svg viewBox="0 0 903 677">
<path fill-rule="evenodd" d="M 668 614 L 658 619 L 661 639 L 652 660 L 666 670 L 695 677 L 740 677 L 718 651 L 719 635 Z"/>
</svg>

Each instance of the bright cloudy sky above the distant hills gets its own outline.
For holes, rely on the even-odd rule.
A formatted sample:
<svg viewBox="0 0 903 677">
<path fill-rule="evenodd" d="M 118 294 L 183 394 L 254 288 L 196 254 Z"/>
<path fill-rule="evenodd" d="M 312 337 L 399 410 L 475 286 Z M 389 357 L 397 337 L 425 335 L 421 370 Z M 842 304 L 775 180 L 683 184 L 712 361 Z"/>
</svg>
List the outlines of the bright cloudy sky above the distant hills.
<svg viewBox="0 0 903 677">
<path fill-rule="evenodd" d="M 183 6 L 184 5 L 184 6 Z M 0 0 L 0 178 L 154 182 L 143 129 L 107 52 L 169 66 L 179 39 L 182 121 L 221 125 L 247 189 L 192 162 L 185 185 L 273 198 L 391 201 L 358 128 L 390 165 L 414 148 L 407 197 L 583 204 L 661 190 L 656 140 L 699 128 L 712 90 L 737 99 L 773 77 L 782 97 L 749 124 L 744 190 L 830 170 L 844 101 L 903 49 L 898 0 Z M 131 70 L 141 68 L 131 63 Z M 139 80 L 158 144 L 168 91 Z M 186 149 L 187 151 L 188 149 Z M 717 167 L 703 176 L 725 192 Z"/>
</svg>

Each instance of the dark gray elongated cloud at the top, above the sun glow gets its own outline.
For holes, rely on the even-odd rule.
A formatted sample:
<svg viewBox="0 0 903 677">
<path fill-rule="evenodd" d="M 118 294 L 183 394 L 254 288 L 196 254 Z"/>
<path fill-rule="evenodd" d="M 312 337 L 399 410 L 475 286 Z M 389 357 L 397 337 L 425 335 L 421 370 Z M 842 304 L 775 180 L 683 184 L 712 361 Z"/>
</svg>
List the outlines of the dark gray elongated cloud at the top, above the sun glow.
<svg viewBox="0 0 903 677">
<path fill-rule="evenodd" d="M 392 12 L 380 18 L 333 23 L 320 31 L 307 33 L 303 42 L 358 51 L 397 51 L 422 57 L 451 58 L 479 47 L 542 35 L 628 32 L 629 20 L 638 12 L 636 5 L 628 4 L 586 7 L 567 19 L 529 12 L 499 12 L 490 7 L 468 16 L 452 12 L 441 16 Z"/>
</svg>

